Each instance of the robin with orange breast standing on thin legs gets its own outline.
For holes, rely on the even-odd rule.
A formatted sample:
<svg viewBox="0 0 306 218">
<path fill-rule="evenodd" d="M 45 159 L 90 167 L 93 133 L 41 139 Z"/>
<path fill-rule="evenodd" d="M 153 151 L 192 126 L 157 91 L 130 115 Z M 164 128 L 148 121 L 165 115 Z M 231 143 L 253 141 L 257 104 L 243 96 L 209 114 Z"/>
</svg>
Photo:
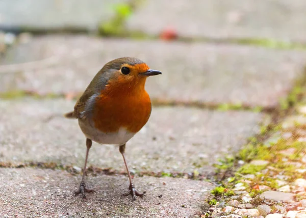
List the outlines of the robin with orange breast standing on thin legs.
<svg viewBox="0 0 306 218">
<path fill-rule="evenodd" d="M 79 189 L 73 193 L 86 199 L 85 193 L 96 193 L 86 188 L 85 175 L 92 141 L 119 147 L 129 177 L 129 192 L 123 196 L 143 197 L 137 192 L 125 159 L 125 145 L 147 123 L 151 114 L 151 101 L 145 91 L 146 78 L 162 74 L 152 70 L 143 61 L 124 57 L 104 65 L 94 76 L 72 112 L 64 116 L 78 119 L 86 137 L 86 155 L 83 177 Z"/>
</svg>

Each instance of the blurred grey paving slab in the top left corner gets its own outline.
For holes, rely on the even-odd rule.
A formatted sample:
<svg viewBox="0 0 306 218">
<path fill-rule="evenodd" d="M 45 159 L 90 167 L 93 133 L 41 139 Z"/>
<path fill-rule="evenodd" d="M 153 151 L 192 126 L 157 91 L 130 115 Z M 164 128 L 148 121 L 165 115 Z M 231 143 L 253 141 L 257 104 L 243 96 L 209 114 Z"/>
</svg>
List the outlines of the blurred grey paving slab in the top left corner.
<svg viewBox="0 0 306 218">
<path fill-rule="evenodd" d="M 53 30 L 74 28 L 95 31 L 109 21 L 115 5 L 124 0 L 3 0 L 0 2 L 0 29 Z"/>
</svg>

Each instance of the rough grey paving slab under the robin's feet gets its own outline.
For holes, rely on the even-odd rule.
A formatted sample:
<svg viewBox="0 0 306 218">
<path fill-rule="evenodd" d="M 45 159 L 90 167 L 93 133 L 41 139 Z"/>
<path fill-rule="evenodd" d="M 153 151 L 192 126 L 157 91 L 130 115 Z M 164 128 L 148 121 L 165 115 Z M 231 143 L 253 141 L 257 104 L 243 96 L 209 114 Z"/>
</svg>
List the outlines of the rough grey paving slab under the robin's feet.
<svg viewBox="0 0 306 218">
<path fill-rule="evenodd" d="M 0 214 L 2 217 L 199 217 L 205 197 L 213 188 L 211 183 L 203 181 L 135 178 L 136 187 L 141 192 L 146 190 L 146 197 L 132 202 L 130 197 L 121 198 L 129 185 L 127 177 L 99 175 L 86 179 L 87 186 L 97 194 L 87 194 L 83 200 L 72 196 L 81 176 L 53 170 L 0 169 Z"/>
</svg>

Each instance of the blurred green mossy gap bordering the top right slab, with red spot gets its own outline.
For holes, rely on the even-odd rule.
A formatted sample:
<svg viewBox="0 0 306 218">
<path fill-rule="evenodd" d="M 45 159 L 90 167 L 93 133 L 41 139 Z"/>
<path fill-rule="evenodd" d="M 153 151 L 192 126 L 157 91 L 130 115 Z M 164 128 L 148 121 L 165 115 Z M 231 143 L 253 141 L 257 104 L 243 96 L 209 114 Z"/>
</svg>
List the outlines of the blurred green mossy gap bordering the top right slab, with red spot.
<svg viewBox="0 0 306 218">
<path fill-rule="evenodd" d="M 164 30 L 159 35 L 152 35 L 143 31 L 130 30 L 126 26 L 127 20 L 133 13 L 146 1 L 134 0 L 125 4 L 117 4 L 115 7 L 115 15 L 108 22 L 101 23 L 98 28 L 99 35 L 102 37 L 121 37 L 121 38 L 135 38 L 135 39 L 164 39 L 170 41 L 183 42 L 206 42 L 217 44 L 241 44 L 254 45 L 274 49 L 306 49 L 306 44 L 294 41 L 279 41 L 272 38 L 244 38 L 244 37 L 227 37 L 227 38 L 213 38 L 213 37 L 186 37 L 177 35 L 173 30 Z"/>
</svg>

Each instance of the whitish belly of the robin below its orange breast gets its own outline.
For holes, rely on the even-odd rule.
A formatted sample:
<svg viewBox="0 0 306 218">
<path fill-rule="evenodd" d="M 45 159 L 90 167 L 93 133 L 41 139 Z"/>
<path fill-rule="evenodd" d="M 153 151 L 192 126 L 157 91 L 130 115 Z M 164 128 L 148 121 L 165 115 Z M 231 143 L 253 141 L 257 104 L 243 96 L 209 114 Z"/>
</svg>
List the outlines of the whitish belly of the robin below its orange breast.
<svg viewBox="0 0 306 218">
<path fill-rule="evenodd" d="M 95 129 L 93 123 L 87 119 L 79 119 L 79 125 L 88 139 L 99 144 L 123 145 L 135 135 L 134 132 L 129 132 L 124 127 L 121 127 L 118 132 L 101 132 L 100 130 Z"/>
</svg>

